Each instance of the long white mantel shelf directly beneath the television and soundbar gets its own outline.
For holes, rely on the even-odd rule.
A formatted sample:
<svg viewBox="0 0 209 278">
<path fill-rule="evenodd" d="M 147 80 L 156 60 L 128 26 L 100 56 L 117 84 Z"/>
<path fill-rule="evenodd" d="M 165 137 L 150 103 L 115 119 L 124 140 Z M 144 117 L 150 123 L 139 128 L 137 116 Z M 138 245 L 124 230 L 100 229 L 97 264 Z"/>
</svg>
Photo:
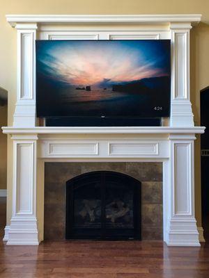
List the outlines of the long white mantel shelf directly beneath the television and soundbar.
<svg viewBox="0 0 209 278">
<path fill-rule="evenodd" d="M 6 134 L 194 134 L 204 133 L 205 126 L 194 127 L 172 127 L 172 126 L 36 126 L 36 127 L 13 127 L 4 126 L 3 133 Z"/>
</svg>

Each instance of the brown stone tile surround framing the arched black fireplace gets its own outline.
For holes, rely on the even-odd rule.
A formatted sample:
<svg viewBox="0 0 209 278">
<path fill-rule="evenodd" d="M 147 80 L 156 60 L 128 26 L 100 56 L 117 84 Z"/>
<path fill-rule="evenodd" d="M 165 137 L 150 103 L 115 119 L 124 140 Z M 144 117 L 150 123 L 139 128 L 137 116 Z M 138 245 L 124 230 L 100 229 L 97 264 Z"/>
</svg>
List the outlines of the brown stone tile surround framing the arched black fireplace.
<svg viewBox="0 0 209 278">
<path fill-rule="evenodd" d="M 141 239 L 162 240 L 162 163 L 45 163 L 45 240 L 65 239 L 66 181 L 92 171 L 114 171 L 141 181 Z"/>
</svg>

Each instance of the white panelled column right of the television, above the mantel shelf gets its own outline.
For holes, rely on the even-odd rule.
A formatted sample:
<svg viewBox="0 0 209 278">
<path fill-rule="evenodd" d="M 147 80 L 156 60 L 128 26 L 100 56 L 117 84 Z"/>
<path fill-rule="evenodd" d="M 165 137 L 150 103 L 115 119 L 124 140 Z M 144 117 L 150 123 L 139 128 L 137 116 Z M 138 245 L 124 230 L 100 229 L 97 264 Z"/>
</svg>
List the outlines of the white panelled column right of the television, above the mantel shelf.
<svg viewBox="0 0 209 278">
<path fill-rule="evenodd" d="M 194 126 L 190 102 L 190 23 L 172 23 L 171 29 L 171 117 L 170 126 Z"/>
</svg>

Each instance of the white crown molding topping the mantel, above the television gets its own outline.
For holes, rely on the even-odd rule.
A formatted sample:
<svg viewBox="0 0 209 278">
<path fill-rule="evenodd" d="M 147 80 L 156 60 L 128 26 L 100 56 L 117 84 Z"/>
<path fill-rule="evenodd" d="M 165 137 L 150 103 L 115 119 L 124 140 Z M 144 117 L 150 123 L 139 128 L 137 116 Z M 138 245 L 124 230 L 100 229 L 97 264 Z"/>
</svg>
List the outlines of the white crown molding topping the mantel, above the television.
<svg viewBox="0 0 209 278">
<path fill-rule="evenodd" d="M 170 24 L 190 22 L 192 26 L 201 21 L 201 15 L 6 15 L 13 27 L 18 23 L 116 23 L 116 24 Z"/>
</svg>

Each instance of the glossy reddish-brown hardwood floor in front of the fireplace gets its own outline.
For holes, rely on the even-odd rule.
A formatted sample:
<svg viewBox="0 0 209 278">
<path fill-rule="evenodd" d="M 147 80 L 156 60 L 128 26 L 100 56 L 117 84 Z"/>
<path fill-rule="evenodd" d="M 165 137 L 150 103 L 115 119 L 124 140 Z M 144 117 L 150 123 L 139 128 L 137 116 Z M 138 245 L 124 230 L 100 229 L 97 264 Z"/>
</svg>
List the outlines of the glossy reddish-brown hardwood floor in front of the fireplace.
<svg viewBox="0 0 209 278">
<path fill-rule="evenodd" d="M 0 218 L 3 227 L 2 209 Z M 0 278 L 31 277 L 208 278 L 209 245 L 167 247 L 161 241 L 83 240 L 45 241 L 31 247 L 6 246 L 0 239 Z"/>
</svg>

